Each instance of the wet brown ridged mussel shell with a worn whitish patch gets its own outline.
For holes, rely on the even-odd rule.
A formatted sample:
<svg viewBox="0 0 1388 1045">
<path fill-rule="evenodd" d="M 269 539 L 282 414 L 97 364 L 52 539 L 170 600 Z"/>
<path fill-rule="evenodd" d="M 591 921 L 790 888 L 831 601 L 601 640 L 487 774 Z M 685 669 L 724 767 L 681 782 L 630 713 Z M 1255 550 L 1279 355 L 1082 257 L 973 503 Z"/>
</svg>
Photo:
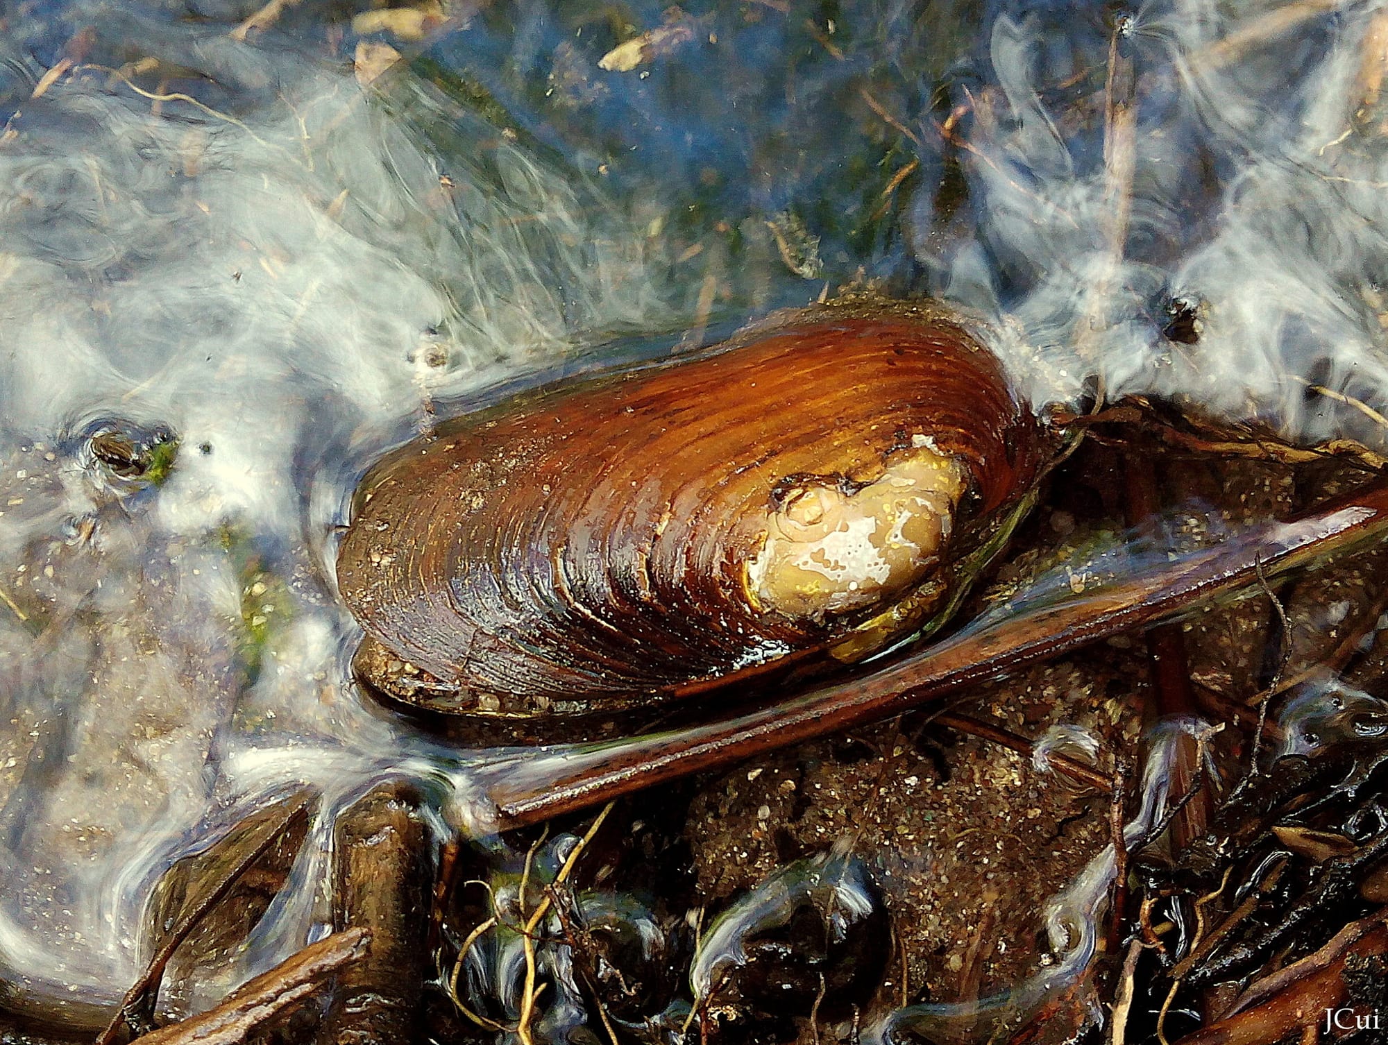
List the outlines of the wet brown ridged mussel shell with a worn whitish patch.
<svg viewBox="0 0 1388 1045">
<path fill-rule="evenodd" d="M 898 641 L 938 606 L 940 559 L 1038 473 L 984 337 L 847 298 L 440 425 L 357 493 L 337 580 L 358 674 L 433 711 L 577 715 Z"/>
</svg>

